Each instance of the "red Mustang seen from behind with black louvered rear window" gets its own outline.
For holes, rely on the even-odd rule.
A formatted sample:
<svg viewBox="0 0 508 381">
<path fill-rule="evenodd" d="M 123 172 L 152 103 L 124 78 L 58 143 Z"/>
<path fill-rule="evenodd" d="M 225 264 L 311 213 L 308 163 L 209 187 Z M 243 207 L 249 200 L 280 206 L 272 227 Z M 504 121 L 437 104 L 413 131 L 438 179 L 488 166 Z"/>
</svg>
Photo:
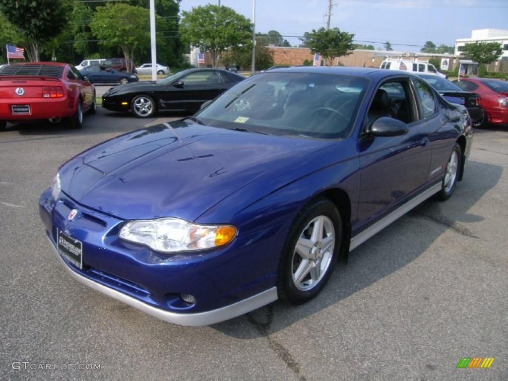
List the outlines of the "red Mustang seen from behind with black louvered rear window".
<svg viewBox="0 0 508 381">
<path fill-rule="evenodd" d="M 37 119 L 63 119 L 79 129 L 83 113 L 95 111 L 95 87 L 67 63 L 26 62 L 0 68 L 0 130 L 6 129 L 6 121 Z"/>
</svg>

